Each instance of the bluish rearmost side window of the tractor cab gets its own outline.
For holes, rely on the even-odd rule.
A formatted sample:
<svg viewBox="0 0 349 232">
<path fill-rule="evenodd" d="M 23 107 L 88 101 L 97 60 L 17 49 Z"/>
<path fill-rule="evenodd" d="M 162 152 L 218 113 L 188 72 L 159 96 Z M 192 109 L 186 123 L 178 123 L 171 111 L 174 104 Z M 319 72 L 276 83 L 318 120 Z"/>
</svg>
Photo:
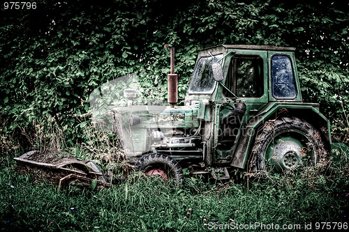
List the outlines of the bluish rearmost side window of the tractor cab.
<svg viewBox="0 0 349 232">
<path fill-rule="evenodd" d="M 274 98 L 281 99 L 297 96 L 295 77 L 288 56 L 272 57 L 272 93 Z"/>
</svg>

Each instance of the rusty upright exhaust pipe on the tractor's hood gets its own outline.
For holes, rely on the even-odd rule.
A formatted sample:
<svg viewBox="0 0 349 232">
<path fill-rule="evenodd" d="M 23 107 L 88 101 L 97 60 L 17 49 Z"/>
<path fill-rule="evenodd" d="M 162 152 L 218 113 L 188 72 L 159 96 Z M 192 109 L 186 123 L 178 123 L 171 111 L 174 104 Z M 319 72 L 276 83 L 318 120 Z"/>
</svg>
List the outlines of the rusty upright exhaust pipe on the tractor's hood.
<svg viewBox="0 0 349 232">
<path fill-rule="evenodd" d="M 178 102 L 177 100 L 177 82 L 178 76 L 174 73 L 174 47 L 164 46 L 165 49 L 169 49 L 171 52 L 170 67 L 171 72 L 168 74 L 168 103 L 170 103 L 171 108 L 174 108 L 174 104 Z"/>
</svg>

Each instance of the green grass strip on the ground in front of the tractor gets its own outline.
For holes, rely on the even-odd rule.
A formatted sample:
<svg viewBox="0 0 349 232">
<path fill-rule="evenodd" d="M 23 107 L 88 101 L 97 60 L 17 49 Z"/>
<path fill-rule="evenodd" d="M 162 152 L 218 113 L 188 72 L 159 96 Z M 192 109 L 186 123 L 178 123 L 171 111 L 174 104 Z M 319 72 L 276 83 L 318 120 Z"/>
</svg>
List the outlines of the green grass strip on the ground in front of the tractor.
<svg viewBox="0 0 349 232">
<path fill-rule="evenodd" d="M 308 167 L 259 181 L 248 182 L 240 172 L 239 183 L 186 175 L 179 189 L 133 172 L 128 180 L 99 191 L 59 191 L 29 173 L 15 173 L 11 158 L 0 160 L 1 231 L 208 231 L 214 225 L 250 222 L 304 230 L 305 224 L 348 222 L 345 153 L 334 152 L 326 170 Z"/>
</svg>

